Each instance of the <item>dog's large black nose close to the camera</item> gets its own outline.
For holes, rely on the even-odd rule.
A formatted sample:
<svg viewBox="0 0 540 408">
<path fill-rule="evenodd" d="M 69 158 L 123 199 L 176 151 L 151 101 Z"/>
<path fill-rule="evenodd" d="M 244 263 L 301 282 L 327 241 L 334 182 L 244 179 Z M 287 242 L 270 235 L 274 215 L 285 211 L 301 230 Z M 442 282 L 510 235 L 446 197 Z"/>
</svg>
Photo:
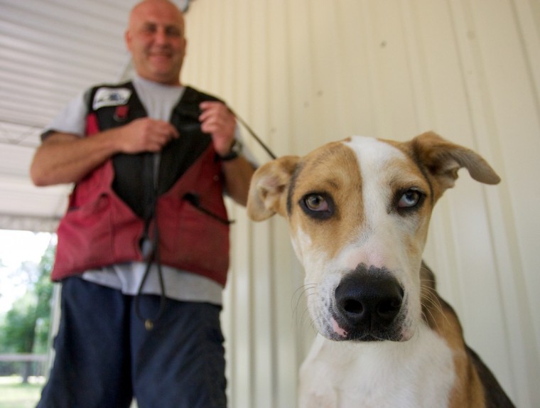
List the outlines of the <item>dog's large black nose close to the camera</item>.
<svg viewBox="0 0 540 408">
<path fill-rule="evenodd" d="M 403 289 L 388 272 L 362 267 L 340 281 L 335 301 L 347 326 L 360 331 L 384 331 L 401 309 Z"/>
</svg>

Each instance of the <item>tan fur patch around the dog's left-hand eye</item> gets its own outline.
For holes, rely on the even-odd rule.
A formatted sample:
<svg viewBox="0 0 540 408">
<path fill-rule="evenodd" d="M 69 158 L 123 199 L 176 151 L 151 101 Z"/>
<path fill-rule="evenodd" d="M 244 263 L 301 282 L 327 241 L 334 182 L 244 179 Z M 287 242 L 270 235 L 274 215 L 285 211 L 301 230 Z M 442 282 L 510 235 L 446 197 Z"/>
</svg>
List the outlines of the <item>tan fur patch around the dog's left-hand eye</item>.
<svg viewBox="0 0 540 408">
<path fill-rule="evenodd" d="M 357 235 L 364 217 L 362 177 L 355 152 L 342 142 L 325 145 L 305 156 L 291 193 L 291 227 L 311 237 L 309 246 L 315 252 L 335 257 Z M 324 221 L 309 218 L 299 207 L 308 193 L 330 195 L 335 215 Z"/>
</svg>

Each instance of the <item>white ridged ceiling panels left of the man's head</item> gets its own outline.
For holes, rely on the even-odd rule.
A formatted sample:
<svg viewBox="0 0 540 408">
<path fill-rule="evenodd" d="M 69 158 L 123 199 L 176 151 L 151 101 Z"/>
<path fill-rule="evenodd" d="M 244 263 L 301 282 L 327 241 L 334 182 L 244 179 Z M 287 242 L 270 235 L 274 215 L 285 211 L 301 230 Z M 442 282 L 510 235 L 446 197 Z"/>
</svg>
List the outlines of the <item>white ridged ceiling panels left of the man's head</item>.
<svg viewBox="0 0 540 408">
<path fill-rule="evenodd" d="M 28 177 L 41 129 L 87 87 L 129 69 L 136 0 L 0 0 L 0 228 L 53 228 L 71 186 Z"/>
</svg>

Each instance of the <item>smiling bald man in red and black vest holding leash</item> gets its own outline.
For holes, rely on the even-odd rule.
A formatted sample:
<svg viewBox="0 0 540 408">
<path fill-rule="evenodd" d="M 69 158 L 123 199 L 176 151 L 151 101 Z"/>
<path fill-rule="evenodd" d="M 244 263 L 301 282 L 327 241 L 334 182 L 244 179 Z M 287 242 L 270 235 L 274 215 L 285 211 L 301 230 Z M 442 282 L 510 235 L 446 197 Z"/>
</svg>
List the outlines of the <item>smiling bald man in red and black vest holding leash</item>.
<svg viewBox="0 0 540 408">
<path fill-rule="evenodd" d="M 254 166 L 225 104 L 180 83 L 181 12 L 144 0 L 125 35 L 136 76 L 93 87 L 50 124 L 37 186 L 75 183 L 58 227 L 55 363 L 38 407 L 225 407 L 222 193 Z M 166 300 L 164 300 L 166 298 Z"/>
</svg>

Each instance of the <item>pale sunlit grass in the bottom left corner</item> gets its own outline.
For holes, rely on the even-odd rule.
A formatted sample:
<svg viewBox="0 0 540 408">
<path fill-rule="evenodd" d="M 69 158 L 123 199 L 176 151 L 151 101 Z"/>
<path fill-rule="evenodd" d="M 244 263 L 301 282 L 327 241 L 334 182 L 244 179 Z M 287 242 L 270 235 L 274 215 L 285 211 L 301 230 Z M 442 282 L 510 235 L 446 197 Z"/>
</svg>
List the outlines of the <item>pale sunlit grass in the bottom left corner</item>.
<svg viewBox="0 0 540 408">
<path fill-rule="evenodd" d="M 0 377 L 0 408 L 34 408 L 43 388 L 43 380 L 30 378 L 23 384 L 17 376 Z"/>
</svg>

